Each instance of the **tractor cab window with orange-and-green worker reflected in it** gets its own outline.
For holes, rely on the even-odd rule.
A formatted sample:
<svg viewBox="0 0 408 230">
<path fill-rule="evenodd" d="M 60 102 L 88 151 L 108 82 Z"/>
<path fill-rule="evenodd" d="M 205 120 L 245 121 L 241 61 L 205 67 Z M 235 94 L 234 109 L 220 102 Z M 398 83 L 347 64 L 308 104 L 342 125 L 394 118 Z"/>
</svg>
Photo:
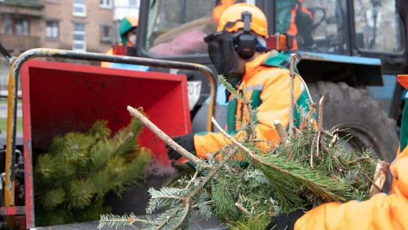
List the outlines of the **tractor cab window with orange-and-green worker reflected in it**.
<svg viewBox="0 0 408 230">
<path fill-rule="evenodd" d="M 294 49 L 349 54 L 346 0 L 277 0 L 277 33 L 295 38 Z"/>
</svg>

